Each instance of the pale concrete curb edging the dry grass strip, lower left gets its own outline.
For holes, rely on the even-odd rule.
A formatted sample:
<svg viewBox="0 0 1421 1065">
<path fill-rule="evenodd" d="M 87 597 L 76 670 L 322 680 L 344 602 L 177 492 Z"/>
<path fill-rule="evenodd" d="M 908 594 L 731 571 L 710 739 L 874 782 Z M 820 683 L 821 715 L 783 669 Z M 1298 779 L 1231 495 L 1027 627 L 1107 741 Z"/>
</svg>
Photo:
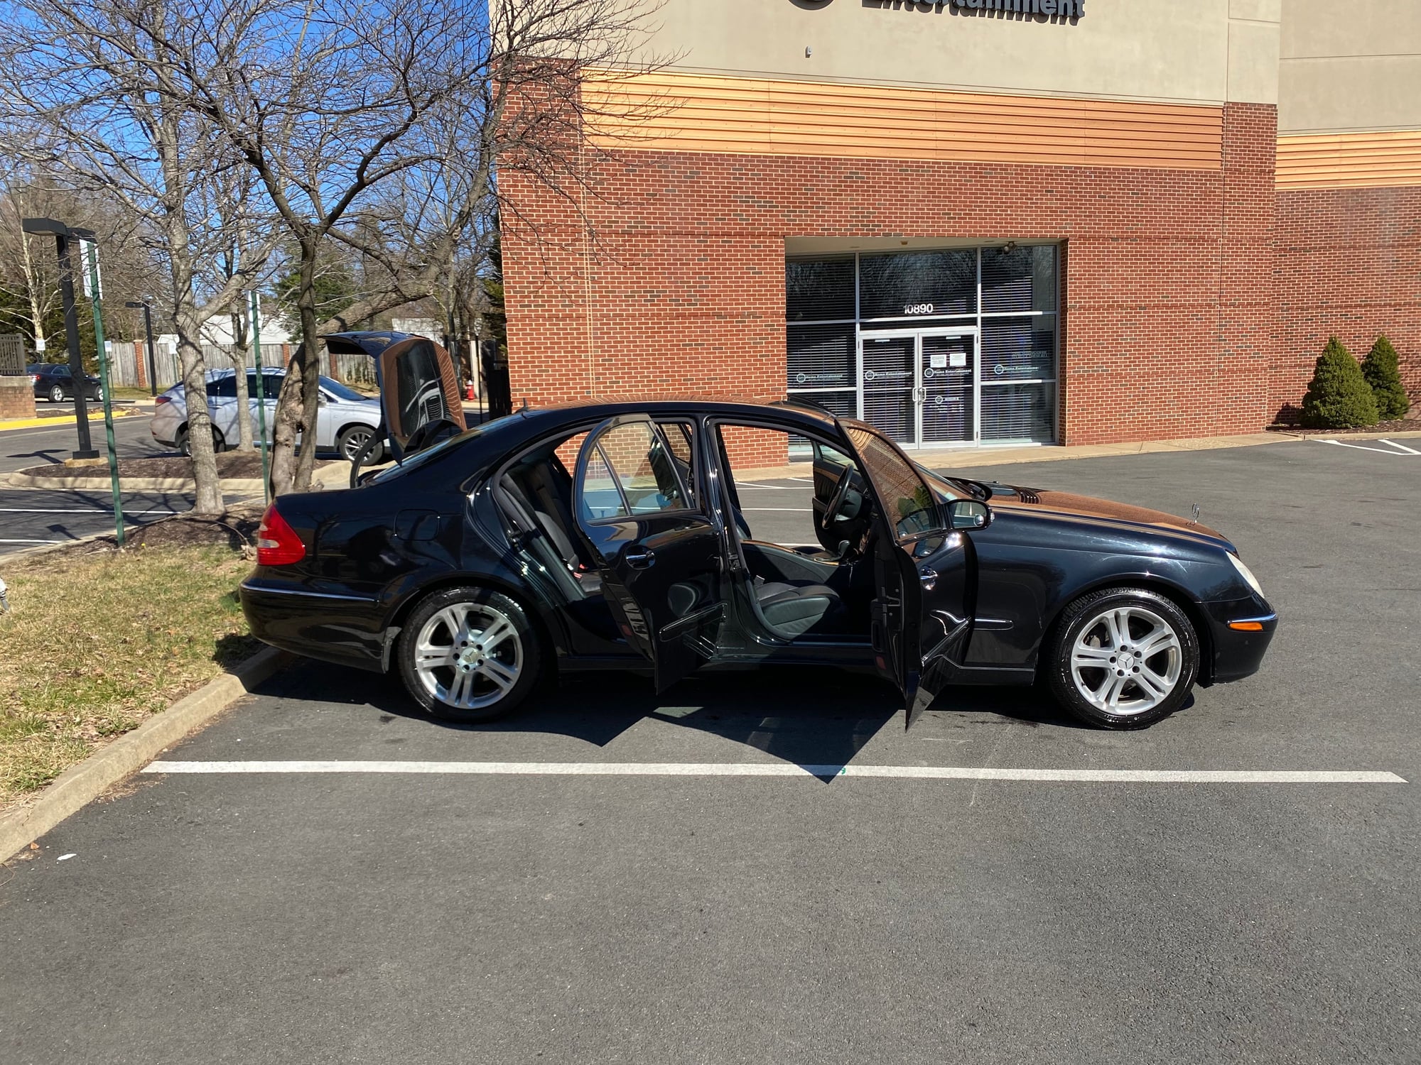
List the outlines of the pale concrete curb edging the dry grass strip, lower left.
<svg viewBox="0 0 1421 1065">
<path fill-rule="evenodd" d="M 0 862 L 23 851 L 163 750 L 207 724 L 277 672 L 290 655 L 266 648 L 226 673 L 149 717 L 108 747 L 61 772 L 33 802 L 0 814 Z"/>
</svg>

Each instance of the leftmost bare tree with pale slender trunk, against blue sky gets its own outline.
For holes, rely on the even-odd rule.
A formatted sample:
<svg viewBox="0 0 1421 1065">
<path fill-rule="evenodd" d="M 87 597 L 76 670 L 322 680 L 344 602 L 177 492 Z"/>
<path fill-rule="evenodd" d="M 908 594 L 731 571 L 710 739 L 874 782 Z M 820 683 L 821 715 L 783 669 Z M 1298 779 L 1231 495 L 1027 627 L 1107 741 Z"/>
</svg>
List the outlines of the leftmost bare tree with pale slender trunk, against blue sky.
<svg viewBox="0 0 1421 1065">
<path fill-rule="evenodd" d="M 226 243 L 196 210 L 198 192 L 232 163 L 205 116 L 186 106 L 203 77 L 203 18 L 186 0 L 3 0 L 0 149 L 109 197 L 148 226 L 168 267 L 163 287 L 182 359 L 195 510 L 223 510 L 202 324 L 250 284 L 256 263 L 207 288 L 202 264 Z M 261 256 L 256 257 L 257 260 Z"/>
</svg>

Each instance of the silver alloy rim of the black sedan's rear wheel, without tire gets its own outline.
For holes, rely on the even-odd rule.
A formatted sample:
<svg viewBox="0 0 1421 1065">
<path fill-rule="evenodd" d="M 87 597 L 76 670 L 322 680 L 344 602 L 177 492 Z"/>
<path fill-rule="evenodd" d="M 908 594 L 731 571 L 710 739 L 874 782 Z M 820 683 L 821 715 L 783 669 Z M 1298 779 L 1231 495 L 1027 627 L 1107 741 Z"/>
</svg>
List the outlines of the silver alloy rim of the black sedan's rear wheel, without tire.
<svg viewBox="0 0 1421 1065">
<path fill-rule="evenodd" d="M 502 611 L 456 602 L 435 613 L 415 639 L 415 676 L 446 706 L 482 710 L 513 690 L 523 672 L 523 640 Z"/>
</svg>

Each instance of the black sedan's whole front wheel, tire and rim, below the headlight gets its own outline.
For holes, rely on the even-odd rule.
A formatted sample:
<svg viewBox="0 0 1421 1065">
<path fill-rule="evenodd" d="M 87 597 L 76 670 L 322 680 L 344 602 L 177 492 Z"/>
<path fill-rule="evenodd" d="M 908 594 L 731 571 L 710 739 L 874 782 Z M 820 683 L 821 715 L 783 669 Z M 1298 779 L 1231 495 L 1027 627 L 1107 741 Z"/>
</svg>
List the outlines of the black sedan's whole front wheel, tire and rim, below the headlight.
<svg viewBox="0 0 1421 1065">
<path fill-rule="evenodd" d="M 1189 697 L 1199 638 L 1188 615 L 1145 588 L 1106 588 L 1071 602 L 1044 673 L 1056 701 L 1097 728 L 1144 728 Z"/>
</svg>

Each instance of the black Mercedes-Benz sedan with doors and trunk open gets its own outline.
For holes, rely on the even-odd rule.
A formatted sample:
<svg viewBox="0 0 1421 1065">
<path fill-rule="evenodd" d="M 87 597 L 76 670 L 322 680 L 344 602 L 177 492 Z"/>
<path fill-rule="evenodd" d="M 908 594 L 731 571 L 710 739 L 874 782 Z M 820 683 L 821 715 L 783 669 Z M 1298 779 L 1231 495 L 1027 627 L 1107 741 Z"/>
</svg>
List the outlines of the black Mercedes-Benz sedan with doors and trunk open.
<svg viewBox="0 0 1421 1065">
<path fill-rule="evenodd" d="M 398 670 L 439 717 L 506 714 L 563 672 L 645 670 L 661 690 L 799 663 L 877 670 L 909 724 L 951 684 L 1042 680 L 1079 719 L 1138 728 L 1256 672 L 1277 625 L 1233 545 L 1184 518 L 932 473 L 790 403 L 598 402 L 463 429 L 448 366 L 435 388 L 401 372 L 429 364 L 421 344 L 446 361 L 406 338 L 384 365 L 398 463 L 280 497 L 242 602 L 267 643 Z M 779 508 L 803 513 L 803 542 L 757 534 L 772 508 L 747 498 L 767 487 L 747 471 L 786 449 L 809 463 L 807 506 Z"/>
</svg>

